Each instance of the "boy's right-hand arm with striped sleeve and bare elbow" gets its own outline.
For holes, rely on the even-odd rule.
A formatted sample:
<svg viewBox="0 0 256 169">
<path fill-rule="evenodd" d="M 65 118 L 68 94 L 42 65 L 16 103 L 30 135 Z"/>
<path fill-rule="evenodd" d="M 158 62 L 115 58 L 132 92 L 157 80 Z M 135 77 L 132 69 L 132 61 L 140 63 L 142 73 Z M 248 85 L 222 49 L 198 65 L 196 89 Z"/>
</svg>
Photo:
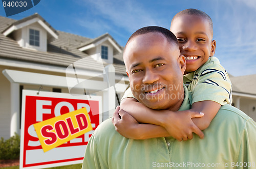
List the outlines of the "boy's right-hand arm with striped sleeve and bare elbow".
<svg viewBox="0 0 256 169">
<path fill-rule="evenodd" d="M 202 118 L 193 119 L 201 130 L 209 126 L 221 105 L 232 102 L 232 83 L 227 72 L 217 58 L 211 57 L 209 60 L 211 62 L 194 73 L 198 75 L 194 76 L 196 79 L 188 86 L 188 90 L 193 92 L 191 110 L 204 113 Z M 183 80 L 186 81 L 186 78 Z"/>
</svg>

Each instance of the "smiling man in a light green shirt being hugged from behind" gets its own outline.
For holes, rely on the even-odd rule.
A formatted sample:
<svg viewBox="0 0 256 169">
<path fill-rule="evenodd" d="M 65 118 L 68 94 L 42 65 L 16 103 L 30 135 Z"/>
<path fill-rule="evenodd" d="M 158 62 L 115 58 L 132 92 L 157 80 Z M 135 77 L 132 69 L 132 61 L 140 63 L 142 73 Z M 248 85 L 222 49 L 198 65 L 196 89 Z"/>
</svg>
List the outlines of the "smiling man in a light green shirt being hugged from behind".
<svg viewBox="0 0 256 169">
<path fill-rule="evenodd" d="M 138 101 L 154 109 L 191 108 L 191 96 L 182 83 L 185 58 L 170 31 L 157 26 L 136 31 L 126 43 L 123 57 Z M 121 119 L 115 112 L 115 120 L 133 121 L 124 111 L 119 114 Z M 151 124 L 137 125 L 155 130 Z M 256 162 L 255 135 L 255 122 L 230 105 L 220 108 L 203 139 L 194 134 L 185 142 L 173 137 L 128 139 L 108 119 L 90 138 L 82 168 L 252 167 Z"/>
</svg>

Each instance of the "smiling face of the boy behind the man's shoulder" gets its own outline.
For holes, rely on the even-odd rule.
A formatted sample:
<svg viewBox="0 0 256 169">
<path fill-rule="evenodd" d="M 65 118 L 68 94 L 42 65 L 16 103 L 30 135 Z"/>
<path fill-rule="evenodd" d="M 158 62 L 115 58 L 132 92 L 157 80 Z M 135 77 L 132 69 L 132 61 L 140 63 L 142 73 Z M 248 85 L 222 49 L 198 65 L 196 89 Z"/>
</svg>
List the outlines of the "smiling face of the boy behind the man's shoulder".
<svg viewBox="0 0 256 169">
<path fill-rule="evenodd" d="M 180 52 L 186 58 L 186 72 L 200 68 L 215 53 L 216 42 L 208 20 L 197 15 L 181 15 L 170 25 L 170 31 L 177 37 Z"/>
</svg>

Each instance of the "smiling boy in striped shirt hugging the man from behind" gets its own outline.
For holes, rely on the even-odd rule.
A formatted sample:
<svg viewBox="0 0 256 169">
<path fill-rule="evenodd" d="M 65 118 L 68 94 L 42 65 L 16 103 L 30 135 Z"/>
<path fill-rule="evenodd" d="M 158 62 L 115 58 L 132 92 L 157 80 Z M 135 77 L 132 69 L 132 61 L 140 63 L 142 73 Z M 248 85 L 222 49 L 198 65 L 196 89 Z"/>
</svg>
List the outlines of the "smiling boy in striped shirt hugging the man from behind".
<svg viewBox="0 0 256 169">
<path fill-rule="evenodd" d="M 193 138 L 193 132 L 203 138 L 203 135 L 195 129 L 195 125 L 200 130 L 206 129 L 221 105 L 231 104 L 232 85 L 219 60 L 213 57 L 216 41 L 212 40 L 212 21 L 207 14 L 196 9 L 183 10 L 174 16 L 170 31 L 177 37 L 180 52 L 186 58 L 183 83 L 188 91 L 193 93 L 190 110 L 179 112 L 161 110 L 160 113 L 140 104 L 135 99 L 139 96 L 131 98 L 133 97 L 131 90 L 126 91 L 120 107 L 140 123 L 159 125 L 161 131 L 164 127 L 170 136 L 178 140 Z M 150 93 L 157 94 L 159 90 L 161 89 L 152 89 Z M 196 115 L 195 112 L 199 114 Z M 115 127 L 121 135 L 134 139 L 167 136 L 166 133 L 159 135 L 134 128 L 128 123 L 121 125 L 115 122 Z M 136 130 L 140 131 L 139 134 L 135 134 Z"/>
</svg>

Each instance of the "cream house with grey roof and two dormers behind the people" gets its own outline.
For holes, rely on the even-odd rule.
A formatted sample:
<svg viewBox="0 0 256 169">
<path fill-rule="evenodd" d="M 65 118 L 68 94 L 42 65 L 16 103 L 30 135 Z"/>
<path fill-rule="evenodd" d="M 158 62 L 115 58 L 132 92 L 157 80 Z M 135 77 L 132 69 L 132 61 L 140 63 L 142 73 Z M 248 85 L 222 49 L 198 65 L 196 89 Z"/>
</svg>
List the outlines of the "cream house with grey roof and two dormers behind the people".
<svg viewBox="0 0 256 169">
<path fill-rule="evenodd" d="M 87 94 L 94 93 L 103 77 L 100 63 L 115 72 L 115 82 L 129 79 L 122 59 L 123 47 L 108 33 L 90 39 L 56 31 L 39 14 L 20 20 L 0 16 L 0 137 L 20 133 L 22 90 L 69 93 L 66 70 L 73 63 L 93 55 L 80 65 L 79 76 L 94 78 Z M 95 53 L 100 53 L 95 55 Z M 233 77 L 233 105 L 256 120 L 255 75 Z M 251 82 L 252 81 L 252 82 Z M 122 88 L 123 89 L 123 88 Z M 116 91 L 120 98 L 123 90 Z M 104 95 L 103 108 L 117 105 L 115 94 Z M 110 96 L 111 95 L 111 96 Z M 111 99 L 104 99 L 108 97 Z M 111 100 L 111 101 L 110 101 Z M 103 119 L 111 116 L 106 114 Z"/>
</svg>

